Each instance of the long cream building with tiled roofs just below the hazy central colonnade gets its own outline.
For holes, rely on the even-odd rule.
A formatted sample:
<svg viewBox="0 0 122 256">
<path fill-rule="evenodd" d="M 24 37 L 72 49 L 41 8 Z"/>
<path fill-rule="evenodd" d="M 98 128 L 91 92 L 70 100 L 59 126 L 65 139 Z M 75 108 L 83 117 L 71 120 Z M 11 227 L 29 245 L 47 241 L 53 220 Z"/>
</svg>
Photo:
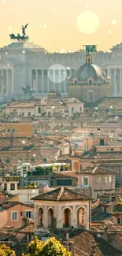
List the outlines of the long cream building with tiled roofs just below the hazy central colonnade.
<svg viewBox="0 0 122 256">
<path fill-rule="evenodd" d="M 6 114 L 22 117 L 72 117 L 83 113 L 83 102 L 77 98 L 41 98 L 9 102 Z"/>
</svg>

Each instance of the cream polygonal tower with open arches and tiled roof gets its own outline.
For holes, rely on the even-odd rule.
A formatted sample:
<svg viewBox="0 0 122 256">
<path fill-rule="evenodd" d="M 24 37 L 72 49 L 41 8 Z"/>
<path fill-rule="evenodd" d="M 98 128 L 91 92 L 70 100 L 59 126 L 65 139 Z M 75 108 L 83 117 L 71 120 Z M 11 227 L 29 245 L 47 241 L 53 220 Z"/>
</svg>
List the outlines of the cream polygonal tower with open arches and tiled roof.
<svg viewBox="0 0 122 256">
<path fill-rule="evenodd" d="M 38 195 L 34 200 L 35 233 L 50 227 L 78 228 L 91 226 L 91 198 L 66 187 Z"/>
</svg>

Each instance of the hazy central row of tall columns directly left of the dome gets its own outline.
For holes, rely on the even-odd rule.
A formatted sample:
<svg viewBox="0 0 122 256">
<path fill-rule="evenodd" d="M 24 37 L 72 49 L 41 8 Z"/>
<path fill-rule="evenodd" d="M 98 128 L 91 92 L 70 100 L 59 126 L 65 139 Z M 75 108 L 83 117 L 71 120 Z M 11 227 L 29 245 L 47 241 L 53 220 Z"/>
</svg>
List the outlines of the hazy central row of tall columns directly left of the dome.
<svg viewBox="0 0 122 256">
<path fill-rule="evenodd" d="M 68 78 L 74 74 L 74 69 L 32 69 L 31 84 L 35 92 L 48 91 L 67 92 Z"/>
</svg>

